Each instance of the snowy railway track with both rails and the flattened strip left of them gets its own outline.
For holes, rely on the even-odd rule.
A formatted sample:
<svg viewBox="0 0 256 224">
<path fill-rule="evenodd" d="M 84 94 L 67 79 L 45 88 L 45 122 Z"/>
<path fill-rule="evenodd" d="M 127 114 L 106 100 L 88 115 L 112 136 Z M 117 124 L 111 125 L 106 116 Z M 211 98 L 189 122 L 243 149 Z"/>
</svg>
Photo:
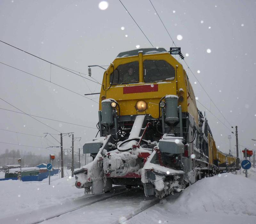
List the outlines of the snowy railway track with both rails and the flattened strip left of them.
<svg viewBox="0 0 256 224">
<path fill-rule="evenodd" d="M 176 194 L 175 194 L 176 195 Z M 116 186 L 115 191 L 88 195 L 36 211 L 0 219 L 0 223 L 110 223 L 120 224 L 132 219 L 160 202 L 154 196 L 145 197 L 139 188 L 127 190 Z M 62 207 L 63 206 L 63 207 Z M 59 210 L 56 210 L 56 209 Z M 55 210 L 54 210 L 55 209 Z M 128 223 L 130 223 L 128 221 Z M 131 222 L 132 223 L 132 222 Z"/>
</svg>

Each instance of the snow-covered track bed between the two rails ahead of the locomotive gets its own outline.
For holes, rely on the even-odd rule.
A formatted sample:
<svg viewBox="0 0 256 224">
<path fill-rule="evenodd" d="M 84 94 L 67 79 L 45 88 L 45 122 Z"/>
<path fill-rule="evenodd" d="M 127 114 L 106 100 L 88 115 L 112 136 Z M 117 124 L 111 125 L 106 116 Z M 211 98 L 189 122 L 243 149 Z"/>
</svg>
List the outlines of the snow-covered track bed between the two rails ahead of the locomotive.
<svg viewBox="0 0 256 224">
<path fill-rule="evenodd" d="M 142 189 L 129 192 L 94 203 L 68 214 L 46 220 L 44 224 L 55 223 L 126 223 L 134 216 L 159 203 L 160 199 L 145 197 Z M 136 219 L 136 218 L 135 218 Z M 129 221 L 128 221 L 129 223 Z M 132 222 L 131 222 L 132 223 Z"/>
</svg>

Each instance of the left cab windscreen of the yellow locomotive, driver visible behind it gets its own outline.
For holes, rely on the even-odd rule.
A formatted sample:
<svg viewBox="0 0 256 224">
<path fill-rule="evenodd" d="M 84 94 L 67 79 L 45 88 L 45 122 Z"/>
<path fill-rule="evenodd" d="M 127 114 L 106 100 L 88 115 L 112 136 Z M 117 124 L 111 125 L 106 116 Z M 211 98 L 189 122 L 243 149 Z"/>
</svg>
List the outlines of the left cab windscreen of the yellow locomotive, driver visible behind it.
<svg viewBox="0 0 256 224">
<path fill-rule="evenodd" d="M 129 84 L 129 83 L 138 83 L 139 82 L 139 62 L 133 61 L 127 64 L 119 65 L 110 74 L 109 82 L 112 85 L 117 84 Z"/>
</svg>

